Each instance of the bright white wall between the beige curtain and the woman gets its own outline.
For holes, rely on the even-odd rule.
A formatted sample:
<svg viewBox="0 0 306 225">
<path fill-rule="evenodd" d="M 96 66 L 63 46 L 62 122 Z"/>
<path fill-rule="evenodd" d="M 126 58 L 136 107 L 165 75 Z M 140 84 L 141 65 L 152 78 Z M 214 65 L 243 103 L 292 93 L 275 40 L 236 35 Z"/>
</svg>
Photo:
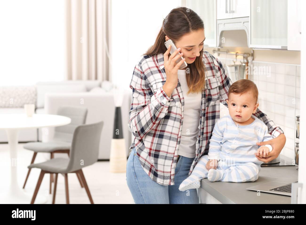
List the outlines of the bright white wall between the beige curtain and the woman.
<svg viewBox="0 0 306 225">
<path fill-rule="evenodd" d="M 181 6 L 181 0 L 113 0 L 111 4 L 111 77 L 118 87 L 131 90 L 136 62 L 154 44 L 163 19 Z"/>
</svg>

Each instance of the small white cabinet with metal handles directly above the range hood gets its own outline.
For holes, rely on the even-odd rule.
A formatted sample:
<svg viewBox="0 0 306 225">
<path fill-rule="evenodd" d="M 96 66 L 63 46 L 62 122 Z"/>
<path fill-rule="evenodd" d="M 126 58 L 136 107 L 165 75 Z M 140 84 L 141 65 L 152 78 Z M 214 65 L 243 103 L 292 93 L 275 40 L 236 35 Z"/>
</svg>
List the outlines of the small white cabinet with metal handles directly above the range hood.
<svg viewBox="0 0 306 225">
<path fill-rule="evenodd" d="M 250 16 L 250 0 L 217 0 L 217 20 Z"/>
</svg>

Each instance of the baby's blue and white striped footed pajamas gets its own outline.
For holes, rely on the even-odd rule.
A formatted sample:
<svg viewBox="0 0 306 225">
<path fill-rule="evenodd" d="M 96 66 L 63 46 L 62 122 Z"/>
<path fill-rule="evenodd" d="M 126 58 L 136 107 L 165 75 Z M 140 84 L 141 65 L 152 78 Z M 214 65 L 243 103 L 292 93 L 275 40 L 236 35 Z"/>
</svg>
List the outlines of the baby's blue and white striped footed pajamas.
<svg viewBox="0 0 306 225">
<path fill-rule="evenodd" d="M 263 163 L 254 155 L 258 148 L 256 142 L 268 141 L 272 136 L 267 126 L 252 115 L 255 120 L 245 126 L 236 125 L 230 115 L 220 118 L 214 127 L 209 144 L 208 155 L 200 157 L 188 178 L 179 190 L 199 188 L 200 181 L 249 182 L 256 181 L 260 165 Z M 272 146 L 264 145 L 272 150 Z M 206 169 L 210 159 L 217 159 L 217 169 Z"/>
</svg>

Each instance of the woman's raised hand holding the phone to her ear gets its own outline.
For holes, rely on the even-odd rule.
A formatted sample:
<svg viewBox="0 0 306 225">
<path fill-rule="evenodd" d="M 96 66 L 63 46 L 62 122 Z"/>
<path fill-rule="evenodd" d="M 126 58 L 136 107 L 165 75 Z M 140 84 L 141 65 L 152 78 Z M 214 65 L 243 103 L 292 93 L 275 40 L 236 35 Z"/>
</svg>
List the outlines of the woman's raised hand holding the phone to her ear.
<svg viewBox="0 0 306 225">
<path fill-rule="evenodd" d="M 164 67 L 167 76 L 165 84 L 172 86 L 174 89 L 177 86 L 177 70 L 183 64 L 185 58 L 181 59 L 180 62 L 176 63 L 177 59 L 181 58 L 181 56 L 183 55 L 183 53 L 176 55 L 181 50 L 181 48 L 178 48 L 177 50 L 174 51 L 174 53 L 170 55 L 168 59 L 170 49 L 171 45 L 169 45 L 167 51 L 164 53 Z"/>
</svg>

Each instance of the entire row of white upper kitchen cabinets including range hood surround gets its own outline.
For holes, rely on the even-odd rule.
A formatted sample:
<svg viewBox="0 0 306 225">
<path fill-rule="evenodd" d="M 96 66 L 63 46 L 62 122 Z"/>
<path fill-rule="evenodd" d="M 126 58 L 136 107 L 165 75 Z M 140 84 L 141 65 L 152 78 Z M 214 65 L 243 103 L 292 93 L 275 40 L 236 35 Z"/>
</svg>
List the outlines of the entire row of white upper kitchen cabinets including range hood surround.
<svg viewBox="0 0 306 225">
<path fill-rule="evenodd" d="M 244 29 L 250 48 L 294 51 L 301 48 L 301 4 L 301 0 L 187 0 L 187 7 L 204 21 L 206 47 L 220 47 L 224 30 Z"/>
</svg>

